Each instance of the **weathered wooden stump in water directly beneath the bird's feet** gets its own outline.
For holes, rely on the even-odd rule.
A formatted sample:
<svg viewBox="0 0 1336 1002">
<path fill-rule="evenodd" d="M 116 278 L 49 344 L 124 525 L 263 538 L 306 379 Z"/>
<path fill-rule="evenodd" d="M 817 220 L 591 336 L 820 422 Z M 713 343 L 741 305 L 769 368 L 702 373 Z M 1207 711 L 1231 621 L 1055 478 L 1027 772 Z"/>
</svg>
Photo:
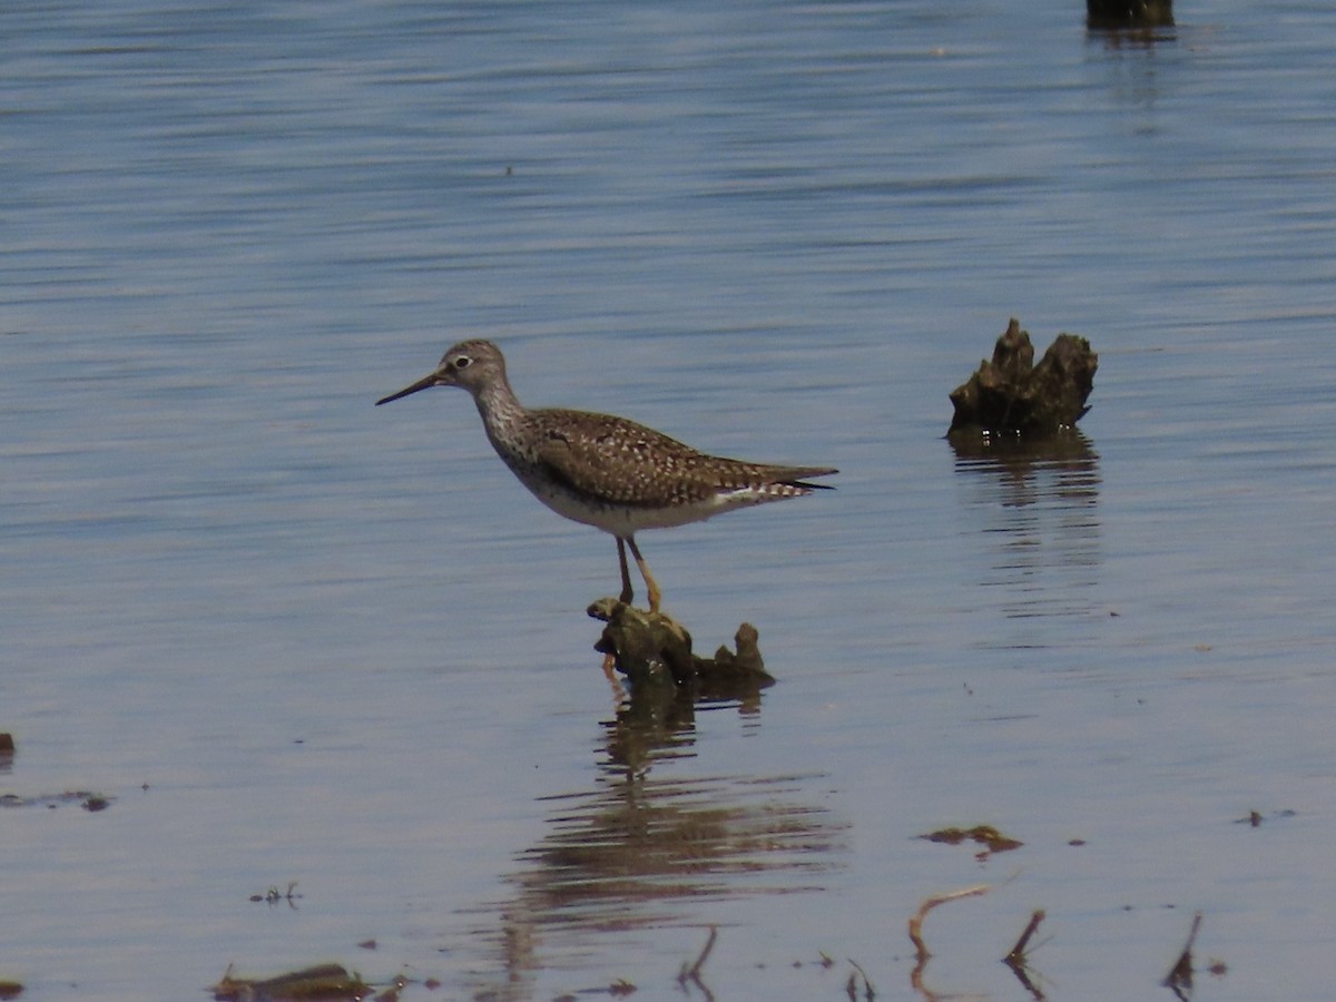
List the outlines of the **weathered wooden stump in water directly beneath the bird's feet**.
<svg viewBox="0 0 1336 1002">
<path fill-rule="evenodd" d="M 663 613 L 600 599 L 589 607 L 589 616 L 607 624 L 595 651 L 615 659 L 633 692 L 687 691 L 693 697 L 731 699 L 775 681 L 749 623 L 737 628 L 736 653 L 720 647 L 713 657 L 699 657 L 691 652 L 691 633 Z"/>
</svg>

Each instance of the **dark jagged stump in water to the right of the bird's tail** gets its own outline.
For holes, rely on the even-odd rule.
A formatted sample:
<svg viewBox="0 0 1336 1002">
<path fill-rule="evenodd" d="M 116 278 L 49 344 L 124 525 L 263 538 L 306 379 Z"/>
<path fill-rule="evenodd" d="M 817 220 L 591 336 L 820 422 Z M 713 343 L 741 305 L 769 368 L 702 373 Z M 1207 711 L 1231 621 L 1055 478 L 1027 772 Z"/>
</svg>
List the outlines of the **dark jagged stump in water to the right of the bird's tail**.
<svg viewBox="0 0 1336 1002">
<path fill-rule="evenodd" d="M 1071 428 L 1090 409 L 1100 355 L 1074 334 L 1057 341 L 1034 365 L 1030 335 L 1015 318 L 969 382 L 951 391 L 955 417 L 947 434 L 1010 434 L 1042 438 Z"/>
</svg>

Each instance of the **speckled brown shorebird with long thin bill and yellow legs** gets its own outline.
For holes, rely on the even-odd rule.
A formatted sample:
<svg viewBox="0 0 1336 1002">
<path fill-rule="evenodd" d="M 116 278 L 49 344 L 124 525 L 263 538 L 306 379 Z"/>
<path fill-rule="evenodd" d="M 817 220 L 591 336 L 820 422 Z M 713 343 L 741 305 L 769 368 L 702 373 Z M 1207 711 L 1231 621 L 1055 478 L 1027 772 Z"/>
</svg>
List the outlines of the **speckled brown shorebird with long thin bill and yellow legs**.
<svg viewBox="0 0 1336 1002">
<path fill-rule="evenodd" d="M 436 371 L 377 401 L 377 406 L 433 386 L 462 386 L 473 395 L 492 448 L 542 504 L 616 537 L 623 603 L 632 599 L 627 569 L 631 546 L 645 578 L 651 612 L 659 612 L 661 593 L 640 556 L 637 530 L 699 522 L 733 508 L 810 494 L 826 485 L 808 484 L 808 477 L 838 472 L 707 456 L 612 414 L 529 410 L 510 389 L 505 358 L 490 341 L 460 342 L 445 353 Z"/>
</svg>

